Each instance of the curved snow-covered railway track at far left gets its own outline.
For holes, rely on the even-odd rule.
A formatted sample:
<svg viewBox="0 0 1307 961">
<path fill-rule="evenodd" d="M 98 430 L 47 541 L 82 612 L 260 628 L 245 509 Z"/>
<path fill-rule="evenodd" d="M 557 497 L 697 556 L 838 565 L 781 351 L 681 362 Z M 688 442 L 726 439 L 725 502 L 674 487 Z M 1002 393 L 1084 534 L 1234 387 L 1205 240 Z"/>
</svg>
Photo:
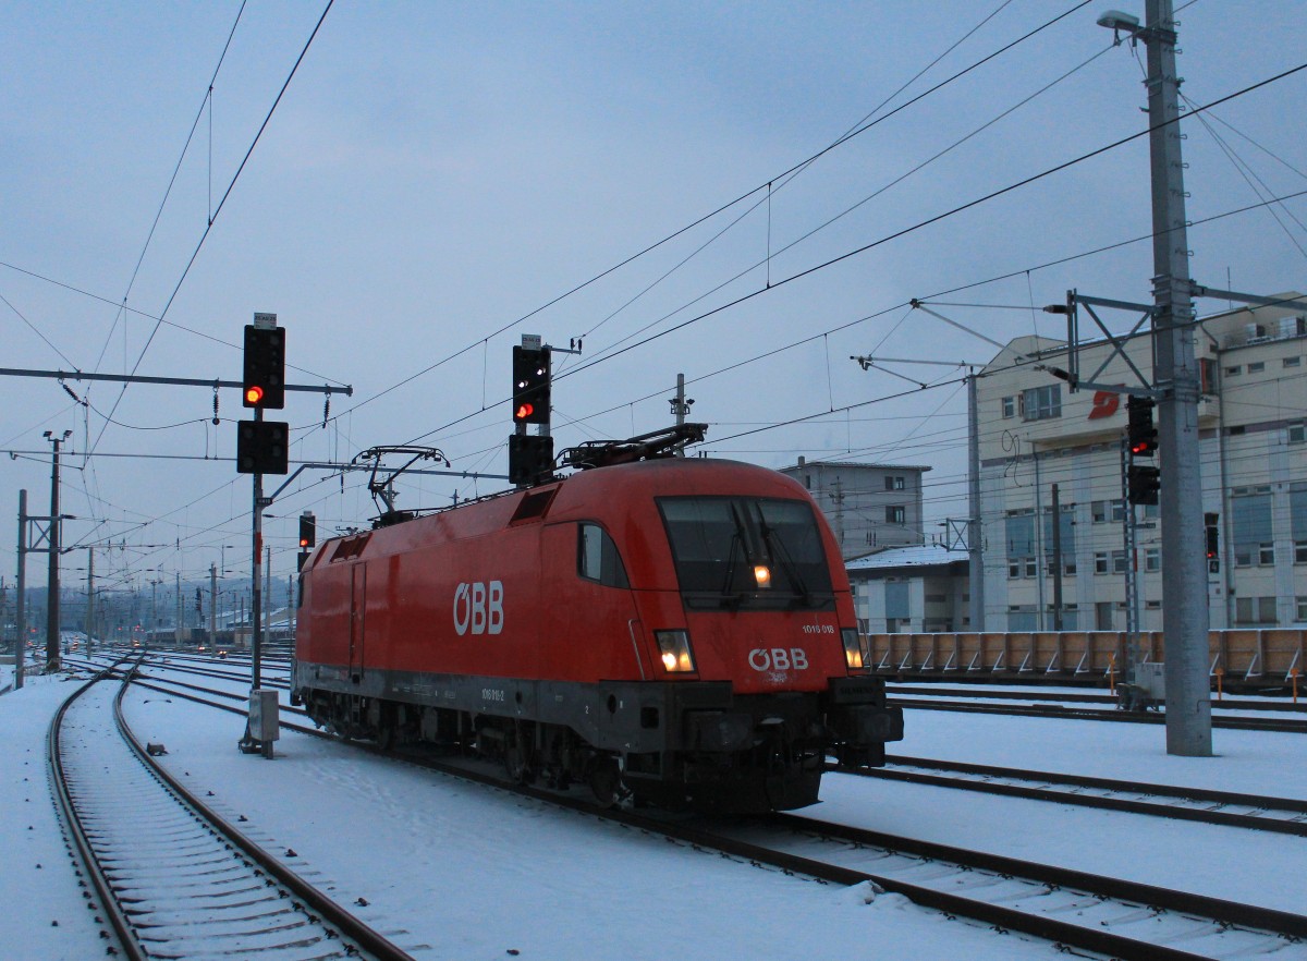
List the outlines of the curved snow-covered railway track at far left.
<svg viewBox="0 0 1307 961">
<path fill-rule="evenodd" d="M 128 679 L 115 692 L 111 673 L 60 707 L 48 758 L 76 858 L 128 958 L 410 958 L 154 764 L 122 717 Z"/>
</svg>

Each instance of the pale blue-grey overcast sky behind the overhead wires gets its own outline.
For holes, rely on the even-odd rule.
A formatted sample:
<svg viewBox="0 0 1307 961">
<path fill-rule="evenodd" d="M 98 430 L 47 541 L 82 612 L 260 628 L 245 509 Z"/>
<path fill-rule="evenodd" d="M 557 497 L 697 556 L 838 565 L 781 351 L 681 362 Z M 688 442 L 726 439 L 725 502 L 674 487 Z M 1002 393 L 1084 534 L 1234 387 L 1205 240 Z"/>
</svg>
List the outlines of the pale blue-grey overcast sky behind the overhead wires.
<svg viewBox="0 0 1307 961">
<path fill-rule="evenodd" d="M 289 395 L 293 462 L 422 443 L 503 475 L 511 346 L 580 337 L 555 358 L 559 450 L 667 426 L 684 373 L 711 455 L 931 465 L 931 530 L 965 515 L 965 370 L 850 357 L 996 353 L 914 297 L 997 341 L 1063 336 L 1038 309 L 1068 288 L 1151 297 L 1150 243 L 1124 243 L 1150 231 L 1146 137 L 933 220 L 1145 129 L 1144 48 L 1112 48 L 1106 3 L 339 0 L 255 144 L 324 5 L 0 1 L 4 367 L 239 379 L 271 311 L 291 383 L 354 391 L 329 413 Z M 1307 63 L 1299 3 L 1178 7 L 1193 105 Z M 1199 282 L 1307 286 L 1302 197 L 1221 216 L 1307 190 L 1304 102 L 1307 71 L 1185 120 Z M 0 514 L 20 488 L 48 509 L 42 434 L 71 430 L 64 543 L 125 544 L 97 556 L 107 584 L 199 577 L 222 544 L 248 570 L 238 392 L 214 426 L 212 388 L 67 387 L 0 378 Z M 414 479 L 399 506 L 505 485 Z M 366 475 L 303 472 L 269 509 L 280 577 L 302 510 L 325 532 L 375 513 Z"/>
</svg>

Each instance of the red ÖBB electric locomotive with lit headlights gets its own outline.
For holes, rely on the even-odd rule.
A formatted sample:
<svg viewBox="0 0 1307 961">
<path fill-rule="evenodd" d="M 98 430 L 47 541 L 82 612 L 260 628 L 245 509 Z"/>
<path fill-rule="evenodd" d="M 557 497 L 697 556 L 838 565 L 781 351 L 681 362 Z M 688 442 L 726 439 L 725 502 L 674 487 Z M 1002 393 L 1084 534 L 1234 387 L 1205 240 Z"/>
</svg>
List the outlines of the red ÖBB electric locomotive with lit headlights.
<svg viewBox="0 0 1307 961">
<path fill-rule="evenodd" d="M 327 540 L 301 578 L 291 701 L 344 736 L 733 812 L 902 737 L 830 528 L 761 467 L 582 471 Z"/>
</svg>

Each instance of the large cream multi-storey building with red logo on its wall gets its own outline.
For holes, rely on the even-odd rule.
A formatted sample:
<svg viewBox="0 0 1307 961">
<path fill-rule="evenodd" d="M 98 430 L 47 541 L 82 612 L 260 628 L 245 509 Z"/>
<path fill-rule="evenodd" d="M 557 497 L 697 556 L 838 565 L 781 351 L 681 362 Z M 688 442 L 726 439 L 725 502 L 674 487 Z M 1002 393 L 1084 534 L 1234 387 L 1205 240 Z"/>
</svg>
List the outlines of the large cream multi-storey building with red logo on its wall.
<svg viewBox="0 0 1307 961">
<path fill-rule="evenodd" d="M 1307 624 L 1307 299 L 1217 314 L 1195 328 L 1202 511 L 1214 520 L 1209 562 L 1212 628 Z M 1081 329 L 1084 331 L 1082 322 Z M 1145 327 L 1146 331 L 1146 327 Z M 1151 339 L 1125 353 L 1151 375 Z M 1082 345 L 1080 374 L 1137 383 L 1107 343 Z M 1162 629 L 1161 530 L 1155 507 L 1136 507 L 1134 557 L 1124 552 L 1121 438 L 1125 395 L 1070 392 L 1047 367 L 1068 367 L 1067 345 L 1013 340 L 978 380 L 985 630 L 1053 629 L 1061 575 L 1067 630 L 1123 630 L 1125 578 L 1137 567 L 1138 626 Z M 1166 488 L 1166 464 L 1161 469 Z M 1060 501 L 1060 565 L 1052 489 Z M 1165 494 L 1163 494 L 1165 496 Z"/>
</svg>

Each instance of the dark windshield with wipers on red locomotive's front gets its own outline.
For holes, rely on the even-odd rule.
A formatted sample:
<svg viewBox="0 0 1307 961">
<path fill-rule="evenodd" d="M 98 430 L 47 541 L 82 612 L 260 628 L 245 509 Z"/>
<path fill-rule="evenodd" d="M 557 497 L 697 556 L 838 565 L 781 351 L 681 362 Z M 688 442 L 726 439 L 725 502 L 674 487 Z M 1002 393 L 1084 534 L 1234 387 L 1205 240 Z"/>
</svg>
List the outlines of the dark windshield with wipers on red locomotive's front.
<svg viewBox="0 0 1307 961">
<path fill-rule="evenodd" d="M 770 611 L 834 607 L 826 552 L 808 503 L 664 497 L 657 505 L 686 605 Z"/>
</svg>

